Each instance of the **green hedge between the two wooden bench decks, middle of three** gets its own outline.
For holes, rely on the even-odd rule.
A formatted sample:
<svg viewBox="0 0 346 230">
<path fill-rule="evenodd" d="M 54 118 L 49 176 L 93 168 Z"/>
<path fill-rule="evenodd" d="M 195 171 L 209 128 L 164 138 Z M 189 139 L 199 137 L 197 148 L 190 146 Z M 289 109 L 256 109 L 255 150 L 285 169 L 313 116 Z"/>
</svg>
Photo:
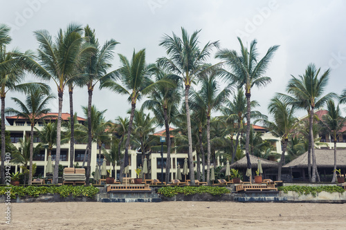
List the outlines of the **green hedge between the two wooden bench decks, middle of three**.
<svg viewBox="0 0 346 230">
<path fill-rule="evenodd" d="M 210 193 L 211 195 L 221 195 L 224 193 L 230 193 L 230 190 L 225 187 L 214 187 L 214 186 L 165 186 L 158 189 L 158 193 L 161 193 L 167 198 L 183 193 L 184 195 L 190 194 L 201 194 L 201 193 Z"/>
</svg>

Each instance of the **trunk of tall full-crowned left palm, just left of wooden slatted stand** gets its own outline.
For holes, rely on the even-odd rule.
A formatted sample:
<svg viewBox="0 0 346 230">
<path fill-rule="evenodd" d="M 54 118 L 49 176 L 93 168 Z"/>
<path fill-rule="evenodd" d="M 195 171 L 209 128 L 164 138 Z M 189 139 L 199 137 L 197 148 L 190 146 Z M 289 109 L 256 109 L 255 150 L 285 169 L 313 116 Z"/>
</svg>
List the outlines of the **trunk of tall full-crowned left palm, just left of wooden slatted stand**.
<svg viewBox="0 0 346 230">
<path fill-rule="evenodd" d="M 53 174 L 53 184 L 57 184 L 57 177 L 59 176 L 59 162 L 60 162 L 60 142 L 62 133 L 62 96 L 64 95 L 63 90 L 57 92 L 59 98 L 59 112 L 57 113 L 57 151 L 55 155 L 55 167 Z"/>
</svg>

